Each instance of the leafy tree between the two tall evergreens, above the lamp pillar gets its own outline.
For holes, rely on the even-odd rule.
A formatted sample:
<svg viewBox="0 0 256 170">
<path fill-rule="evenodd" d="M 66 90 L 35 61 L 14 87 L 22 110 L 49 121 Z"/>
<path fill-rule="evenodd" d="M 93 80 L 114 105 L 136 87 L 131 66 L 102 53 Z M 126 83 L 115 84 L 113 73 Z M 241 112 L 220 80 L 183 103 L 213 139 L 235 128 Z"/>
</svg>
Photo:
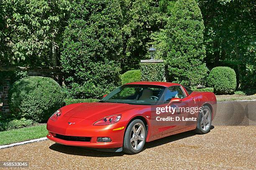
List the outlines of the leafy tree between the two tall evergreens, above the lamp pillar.
<svg viewBox="0 0 256 170">
<path fill-rule="evenodd" d="M 121 0 L 123 13 L 122 70 L 139 68 L 140 60 L 147 59 L 152 32 L 165 25 L 165 13 L 159 10 L 158 0 Z"/>
</svg>

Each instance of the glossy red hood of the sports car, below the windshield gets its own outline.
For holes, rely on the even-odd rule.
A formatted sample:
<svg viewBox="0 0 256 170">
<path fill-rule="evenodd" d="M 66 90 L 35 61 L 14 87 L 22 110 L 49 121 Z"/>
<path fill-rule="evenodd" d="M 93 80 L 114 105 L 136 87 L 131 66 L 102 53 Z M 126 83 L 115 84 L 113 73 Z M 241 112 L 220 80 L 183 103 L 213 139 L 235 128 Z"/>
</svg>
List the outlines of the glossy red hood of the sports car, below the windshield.
<svg viewBox="0 0 256 170">
<path fill-rule="evenodd" d="M 93 102 L 84 103 L 64 114 L 64 117 L 99 120 L 105 116 L 122 114 L 131 109 L 139 109 L 143 105 L 129 105 L 126 103 Z"/>
</svg>

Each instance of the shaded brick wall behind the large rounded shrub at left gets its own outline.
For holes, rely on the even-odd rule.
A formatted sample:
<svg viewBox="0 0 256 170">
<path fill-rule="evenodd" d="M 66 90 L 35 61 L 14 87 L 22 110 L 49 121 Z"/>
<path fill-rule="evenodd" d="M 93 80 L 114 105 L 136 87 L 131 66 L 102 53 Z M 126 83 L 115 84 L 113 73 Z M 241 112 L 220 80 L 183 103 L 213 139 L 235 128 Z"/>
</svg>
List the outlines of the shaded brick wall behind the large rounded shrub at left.
<svg viewBox="0 0 256 170">
<path fill-rule="evenodd" d="M 61 67 L 49 67 L 49 68 L 31 68 L 31 67 L 0 67 L 1 72 L 8 71 L 17 71 L 22 70 L 26 71 L 28 76 L 42 76 L 42 77 L 51 77 L 59 85 L 63 83 L 63 76 L 61 74 Z M 10 83 L 12 77 L 0 77 L 0 81 L 2 81 L 2 86 L 0 86 L 0 101 L 3 102 L 3 105 L 0 103 L 0 114 L 5 116 L 10 115 L 10 109 L 8 105 L 8 90 L 10 88 Z"/>
</svg>

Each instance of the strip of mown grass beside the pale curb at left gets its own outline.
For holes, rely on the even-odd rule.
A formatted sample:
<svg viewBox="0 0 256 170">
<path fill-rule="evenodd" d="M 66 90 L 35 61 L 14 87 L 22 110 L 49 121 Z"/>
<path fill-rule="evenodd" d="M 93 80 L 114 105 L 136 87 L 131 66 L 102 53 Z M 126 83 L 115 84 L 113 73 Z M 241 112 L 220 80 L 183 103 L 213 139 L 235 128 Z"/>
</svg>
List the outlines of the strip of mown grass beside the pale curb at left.
<svg viewBox="0 0 256 170">
<path fill-rule="evenodd" d="M 0 145 L 23 142 L 37 138 L 46 137 L 46 125 L 31 126 L 14 130 L 0 132 Z"/>
</svg>

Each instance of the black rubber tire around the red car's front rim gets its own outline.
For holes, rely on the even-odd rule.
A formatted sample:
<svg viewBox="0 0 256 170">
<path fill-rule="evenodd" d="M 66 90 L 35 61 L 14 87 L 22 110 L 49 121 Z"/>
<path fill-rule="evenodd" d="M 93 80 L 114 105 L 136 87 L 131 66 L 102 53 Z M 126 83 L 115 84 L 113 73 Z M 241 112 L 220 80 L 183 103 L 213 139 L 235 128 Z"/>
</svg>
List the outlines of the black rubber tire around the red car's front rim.
<svg viewBox="0 0 256 170">
<path fill-rule="evenodd" d="M 141 142 L 143 142 L 141 145 L 141 148 L 139 150 L 134 150 L 131 145 L 131 133 L 133 131 L 132 130 L 133 126 L 136 125 L 137 123 L 141 123 L 141 125 L 143 125 L 145 136 L 144 136 L 144 141 L 141 141 Z M 146 127 L 145 127 L 144 122 L 140 119 L 133 120 L 125 130 L 125 134 L 124 134 L 124 138 L 123 138 L 123 152 L 128 153 L 128 154 L 136 154 L 136 153 L 141 152 L 141 150 L 143 150 L 143 147 L 145 145 L 146 137 L 147 137 L 147 133 L 146 133 Z"/>
</svg>

